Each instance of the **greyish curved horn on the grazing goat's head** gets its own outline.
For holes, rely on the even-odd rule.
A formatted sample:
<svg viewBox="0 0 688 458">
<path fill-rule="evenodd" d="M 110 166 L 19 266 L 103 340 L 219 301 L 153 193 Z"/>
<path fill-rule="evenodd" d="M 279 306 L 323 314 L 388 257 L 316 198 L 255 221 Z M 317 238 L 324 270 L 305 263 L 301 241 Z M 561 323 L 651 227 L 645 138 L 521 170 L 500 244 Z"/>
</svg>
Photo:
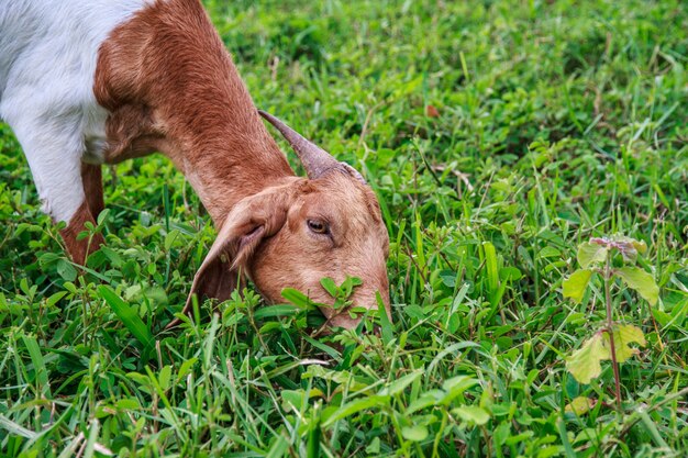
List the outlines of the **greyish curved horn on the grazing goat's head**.
<svg viewBox="0 0 688 458">
<path fill-rule="evenodd" d="M 324 174 L 332 169 L 343 169 L 357 180 L 365 185 L 365 179 L 353 167 L 347 164 L 340 163 L 330 153 L 315 145 L 313 142 L 304 138 L 301 134 L 289 127 L 279 119 L 273 116 L 263 110 L 258 110 L 258 113 L 265 118 L 270 124 L 273 124 L 280 134 L 289 142 L 289 145 L 301 159 L 308 178 L 315 179 L 322 177 Z"/>
</svg>

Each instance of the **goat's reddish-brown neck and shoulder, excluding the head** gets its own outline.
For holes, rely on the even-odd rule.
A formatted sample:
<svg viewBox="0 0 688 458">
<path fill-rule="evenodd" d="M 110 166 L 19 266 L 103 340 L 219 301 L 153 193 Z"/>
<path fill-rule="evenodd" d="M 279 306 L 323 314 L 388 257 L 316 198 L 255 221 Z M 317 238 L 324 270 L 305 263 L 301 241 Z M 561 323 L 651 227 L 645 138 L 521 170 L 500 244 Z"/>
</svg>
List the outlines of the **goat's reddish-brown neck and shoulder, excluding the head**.
<svg viewBox="0 0 688 458">
<path fill-rule="evenodd" d="M 160 150 L 215 225 L 241 199 L 293 176 L 198 1 L 155 2 L 116 27 L 95 90 L 111 113 L 104 160 Z"/>
</svg>

